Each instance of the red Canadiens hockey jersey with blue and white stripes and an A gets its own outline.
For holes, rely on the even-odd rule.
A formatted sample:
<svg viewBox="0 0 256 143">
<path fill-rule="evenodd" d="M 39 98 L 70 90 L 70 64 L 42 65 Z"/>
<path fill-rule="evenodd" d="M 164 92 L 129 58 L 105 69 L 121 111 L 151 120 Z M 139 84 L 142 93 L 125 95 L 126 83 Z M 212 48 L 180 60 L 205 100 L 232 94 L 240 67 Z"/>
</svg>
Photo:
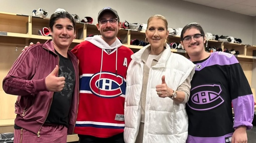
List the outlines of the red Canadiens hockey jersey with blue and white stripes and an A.
<svg viewBox="0 0 256 143">
<path fill-rule="evenodd" d="M 133 52 L 121 46 L 108 54 L 89 41 L 81 42 L 72 52 L 79 59 L 80 76 L 74 132 L 102 138 L 123 133 L 126 71 Z"/>
</svg>

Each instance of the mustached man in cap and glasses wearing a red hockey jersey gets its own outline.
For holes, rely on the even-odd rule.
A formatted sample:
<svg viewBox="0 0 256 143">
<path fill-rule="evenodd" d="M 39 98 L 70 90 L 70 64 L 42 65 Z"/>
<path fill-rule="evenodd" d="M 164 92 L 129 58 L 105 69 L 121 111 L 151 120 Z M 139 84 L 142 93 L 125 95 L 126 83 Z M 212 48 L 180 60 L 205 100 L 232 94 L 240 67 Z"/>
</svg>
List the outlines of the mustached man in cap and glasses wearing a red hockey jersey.
<svg viewBox="0 0 256 143">
<path fill-rule="evenodd" d="M 101 35 L 72 50 L 79 59 L 80 99 L 75 133 L 80 143 L 124 143 L 126 71 L 133 52 L 117 39 L 117 11 L 103 8 L 96 24 Z"/>
</svg>

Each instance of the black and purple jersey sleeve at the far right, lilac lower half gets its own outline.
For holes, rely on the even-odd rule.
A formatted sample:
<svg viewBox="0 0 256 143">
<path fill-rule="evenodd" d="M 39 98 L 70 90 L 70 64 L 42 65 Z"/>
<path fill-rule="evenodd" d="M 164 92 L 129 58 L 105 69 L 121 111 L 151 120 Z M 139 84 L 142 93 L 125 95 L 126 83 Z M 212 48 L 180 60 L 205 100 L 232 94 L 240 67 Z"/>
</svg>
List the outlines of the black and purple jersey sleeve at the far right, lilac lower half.
<svg viewBox="0 0 256 143">
<path fill-rule="evenodd" d="M 254 116 L 252 91 L 245 73 L 235 56 L 230 58 L 230 63 L 228 69 L 229 88 L 235 115 L 233 128 L 246 126 L 250 130 L 252 129 Z"/>
</svg>

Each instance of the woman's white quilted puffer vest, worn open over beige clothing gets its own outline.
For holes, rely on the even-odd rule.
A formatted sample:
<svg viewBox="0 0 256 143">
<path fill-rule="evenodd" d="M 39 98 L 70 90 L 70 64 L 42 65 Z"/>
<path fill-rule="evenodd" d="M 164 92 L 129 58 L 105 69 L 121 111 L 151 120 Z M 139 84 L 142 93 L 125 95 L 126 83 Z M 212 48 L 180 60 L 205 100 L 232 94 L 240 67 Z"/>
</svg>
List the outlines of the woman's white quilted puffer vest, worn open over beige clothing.
<svg viewBox="0 0 256 143">
<path fill-rule="evenodd" d="M 143 82 L 143 62 L 141 55 L 150 45 L 132 55 L 127 70 L 127 87 L 124 106 L 124 140 L 134 143 L 139 132 L 141 116 L 141 91 Z M 192 79 L 195 65 L 179 54 L 171 53 L 169 45 L 165 45 L 158 63 L 149 71 L 143 143 L 185 143 L 187 139 L 188 117 L 185 104 L 174 103 L 170 98 L 160 98 L 156 85 L 165 82 L 169 88 L 176 90 L 190 75 Z"/>
</svg>

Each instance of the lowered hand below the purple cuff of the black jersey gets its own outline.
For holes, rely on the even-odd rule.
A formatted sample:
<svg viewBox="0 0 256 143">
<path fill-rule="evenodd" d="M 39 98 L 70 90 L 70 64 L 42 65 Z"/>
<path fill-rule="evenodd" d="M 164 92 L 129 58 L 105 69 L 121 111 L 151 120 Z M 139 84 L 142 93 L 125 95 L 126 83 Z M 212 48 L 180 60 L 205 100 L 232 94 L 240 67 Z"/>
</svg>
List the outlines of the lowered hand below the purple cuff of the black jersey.
<svg viewBox="0 0 256 143">
<path fill-rule="evenodd" d="M 232 135 L 232 143 L 247 143 L 246 127 L 238 127 Z"/>
</svg>

